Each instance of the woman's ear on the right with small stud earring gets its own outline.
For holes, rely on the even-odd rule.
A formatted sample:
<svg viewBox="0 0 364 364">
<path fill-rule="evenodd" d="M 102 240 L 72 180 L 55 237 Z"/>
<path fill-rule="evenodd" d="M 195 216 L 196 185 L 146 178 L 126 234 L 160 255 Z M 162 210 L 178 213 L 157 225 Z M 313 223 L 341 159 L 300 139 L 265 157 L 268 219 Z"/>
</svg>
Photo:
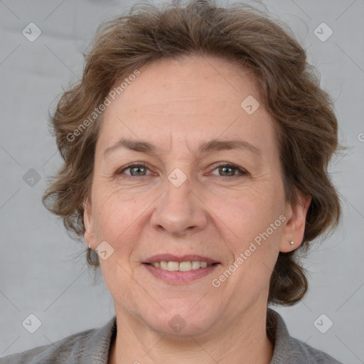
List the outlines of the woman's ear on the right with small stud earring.
<svg viewBox="0 0 364 364">
<path fill-rule="evenodd" d="M 311 196 L 299 196 L 296 205 L 287 205 L 286 218 L 287 223 L 284 226 L 282 241 L 279 245 L 279 251 L 283 253 L 291 252 L 299 247 L 304 240 L 304 228 L 306 225 L 307 210 L 311 203 Z M 293 241 L 294 245 L 289 242 Z"/>
</svg>

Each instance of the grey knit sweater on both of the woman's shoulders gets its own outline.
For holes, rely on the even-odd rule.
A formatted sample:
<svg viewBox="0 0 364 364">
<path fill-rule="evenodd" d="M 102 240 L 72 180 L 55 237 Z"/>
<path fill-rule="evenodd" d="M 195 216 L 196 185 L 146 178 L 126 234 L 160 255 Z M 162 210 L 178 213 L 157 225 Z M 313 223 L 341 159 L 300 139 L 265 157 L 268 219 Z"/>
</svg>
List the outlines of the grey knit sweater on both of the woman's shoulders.
<svg viewBox="0 0 364 364">
<path fill-rule="evenodd" d="M 275 343 L 271 364 L 342 364 L 321 350 L 289 336 L 282 316 L 276 311 L 272 314 Z M 53 344 L 2 357 L 0 364 L 107 364 L 110 342 L 115 333 L 114 316 L 102 328 L 75 333 Z"/>
</svg>

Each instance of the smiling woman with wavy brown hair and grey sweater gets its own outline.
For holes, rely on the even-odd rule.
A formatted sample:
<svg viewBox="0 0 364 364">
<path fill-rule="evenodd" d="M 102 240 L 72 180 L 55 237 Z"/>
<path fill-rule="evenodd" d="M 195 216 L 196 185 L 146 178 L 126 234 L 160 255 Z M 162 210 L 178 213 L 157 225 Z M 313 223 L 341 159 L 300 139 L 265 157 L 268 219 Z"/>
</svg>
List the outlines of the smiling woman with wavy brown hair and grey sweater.
<svg viewBox="0 0 364 364">
<path fill-rule="evenodd" d="M 269 304 L 340 216 L 331 100 L 301 46 L 243 6 L 145 6 L 100 27 L 52 119 L 44 196 L 100 265 L 116 317 L 1 363 L 339 363 Z"/>
</svg>

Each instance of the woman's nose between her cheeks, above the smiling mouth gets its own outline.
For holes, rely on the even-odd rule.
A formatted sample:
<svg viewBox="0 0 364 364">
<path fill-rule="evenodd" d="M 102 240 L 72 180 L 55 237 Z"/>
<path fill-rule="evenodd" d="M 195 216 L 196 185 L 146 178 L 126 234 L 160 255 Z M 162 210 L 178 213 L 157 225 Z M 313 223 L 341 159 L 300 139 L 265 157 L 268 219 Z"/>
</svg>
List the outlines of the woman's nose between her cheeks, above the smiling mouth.
<svg viewBox="0 0 364 364">
<path fill-rule="evenodd" d="M 208 224 L 208 213 L 196 188 L 191 189 L 187 180 L 179 187 L 166 180 L 161 198 L 151 216 L 151 225 L 159 232 L 183 237 L 191 232 L 203 230 Z"/>
</svg>

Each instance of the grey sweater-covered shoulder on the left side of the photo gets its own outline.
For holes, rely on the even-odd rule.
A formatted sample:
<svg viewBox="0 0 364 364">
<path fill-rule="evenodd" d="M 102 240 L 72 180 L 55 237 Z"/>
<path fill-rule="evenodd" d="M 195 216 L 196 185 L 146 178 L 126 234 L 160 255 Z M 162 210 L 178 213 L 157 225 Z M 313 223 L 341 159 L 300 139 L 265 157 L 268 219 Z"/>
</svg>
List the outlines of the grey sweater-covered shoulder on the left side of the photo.
<svg viewBox="0 0 364 364">
<path fill-rule="evenodd" d="M 4 356 L 0 358 L 0 364 L 83 364 L 93 363 L 92 358 L 95 355 L 99 360 L 100 356 L 105 358 L 107 363 L 115 324 L 116 321 L 113 318 L 102 328 L 92 328 L 67 336 L 55 343 Z"/>
</svg>

